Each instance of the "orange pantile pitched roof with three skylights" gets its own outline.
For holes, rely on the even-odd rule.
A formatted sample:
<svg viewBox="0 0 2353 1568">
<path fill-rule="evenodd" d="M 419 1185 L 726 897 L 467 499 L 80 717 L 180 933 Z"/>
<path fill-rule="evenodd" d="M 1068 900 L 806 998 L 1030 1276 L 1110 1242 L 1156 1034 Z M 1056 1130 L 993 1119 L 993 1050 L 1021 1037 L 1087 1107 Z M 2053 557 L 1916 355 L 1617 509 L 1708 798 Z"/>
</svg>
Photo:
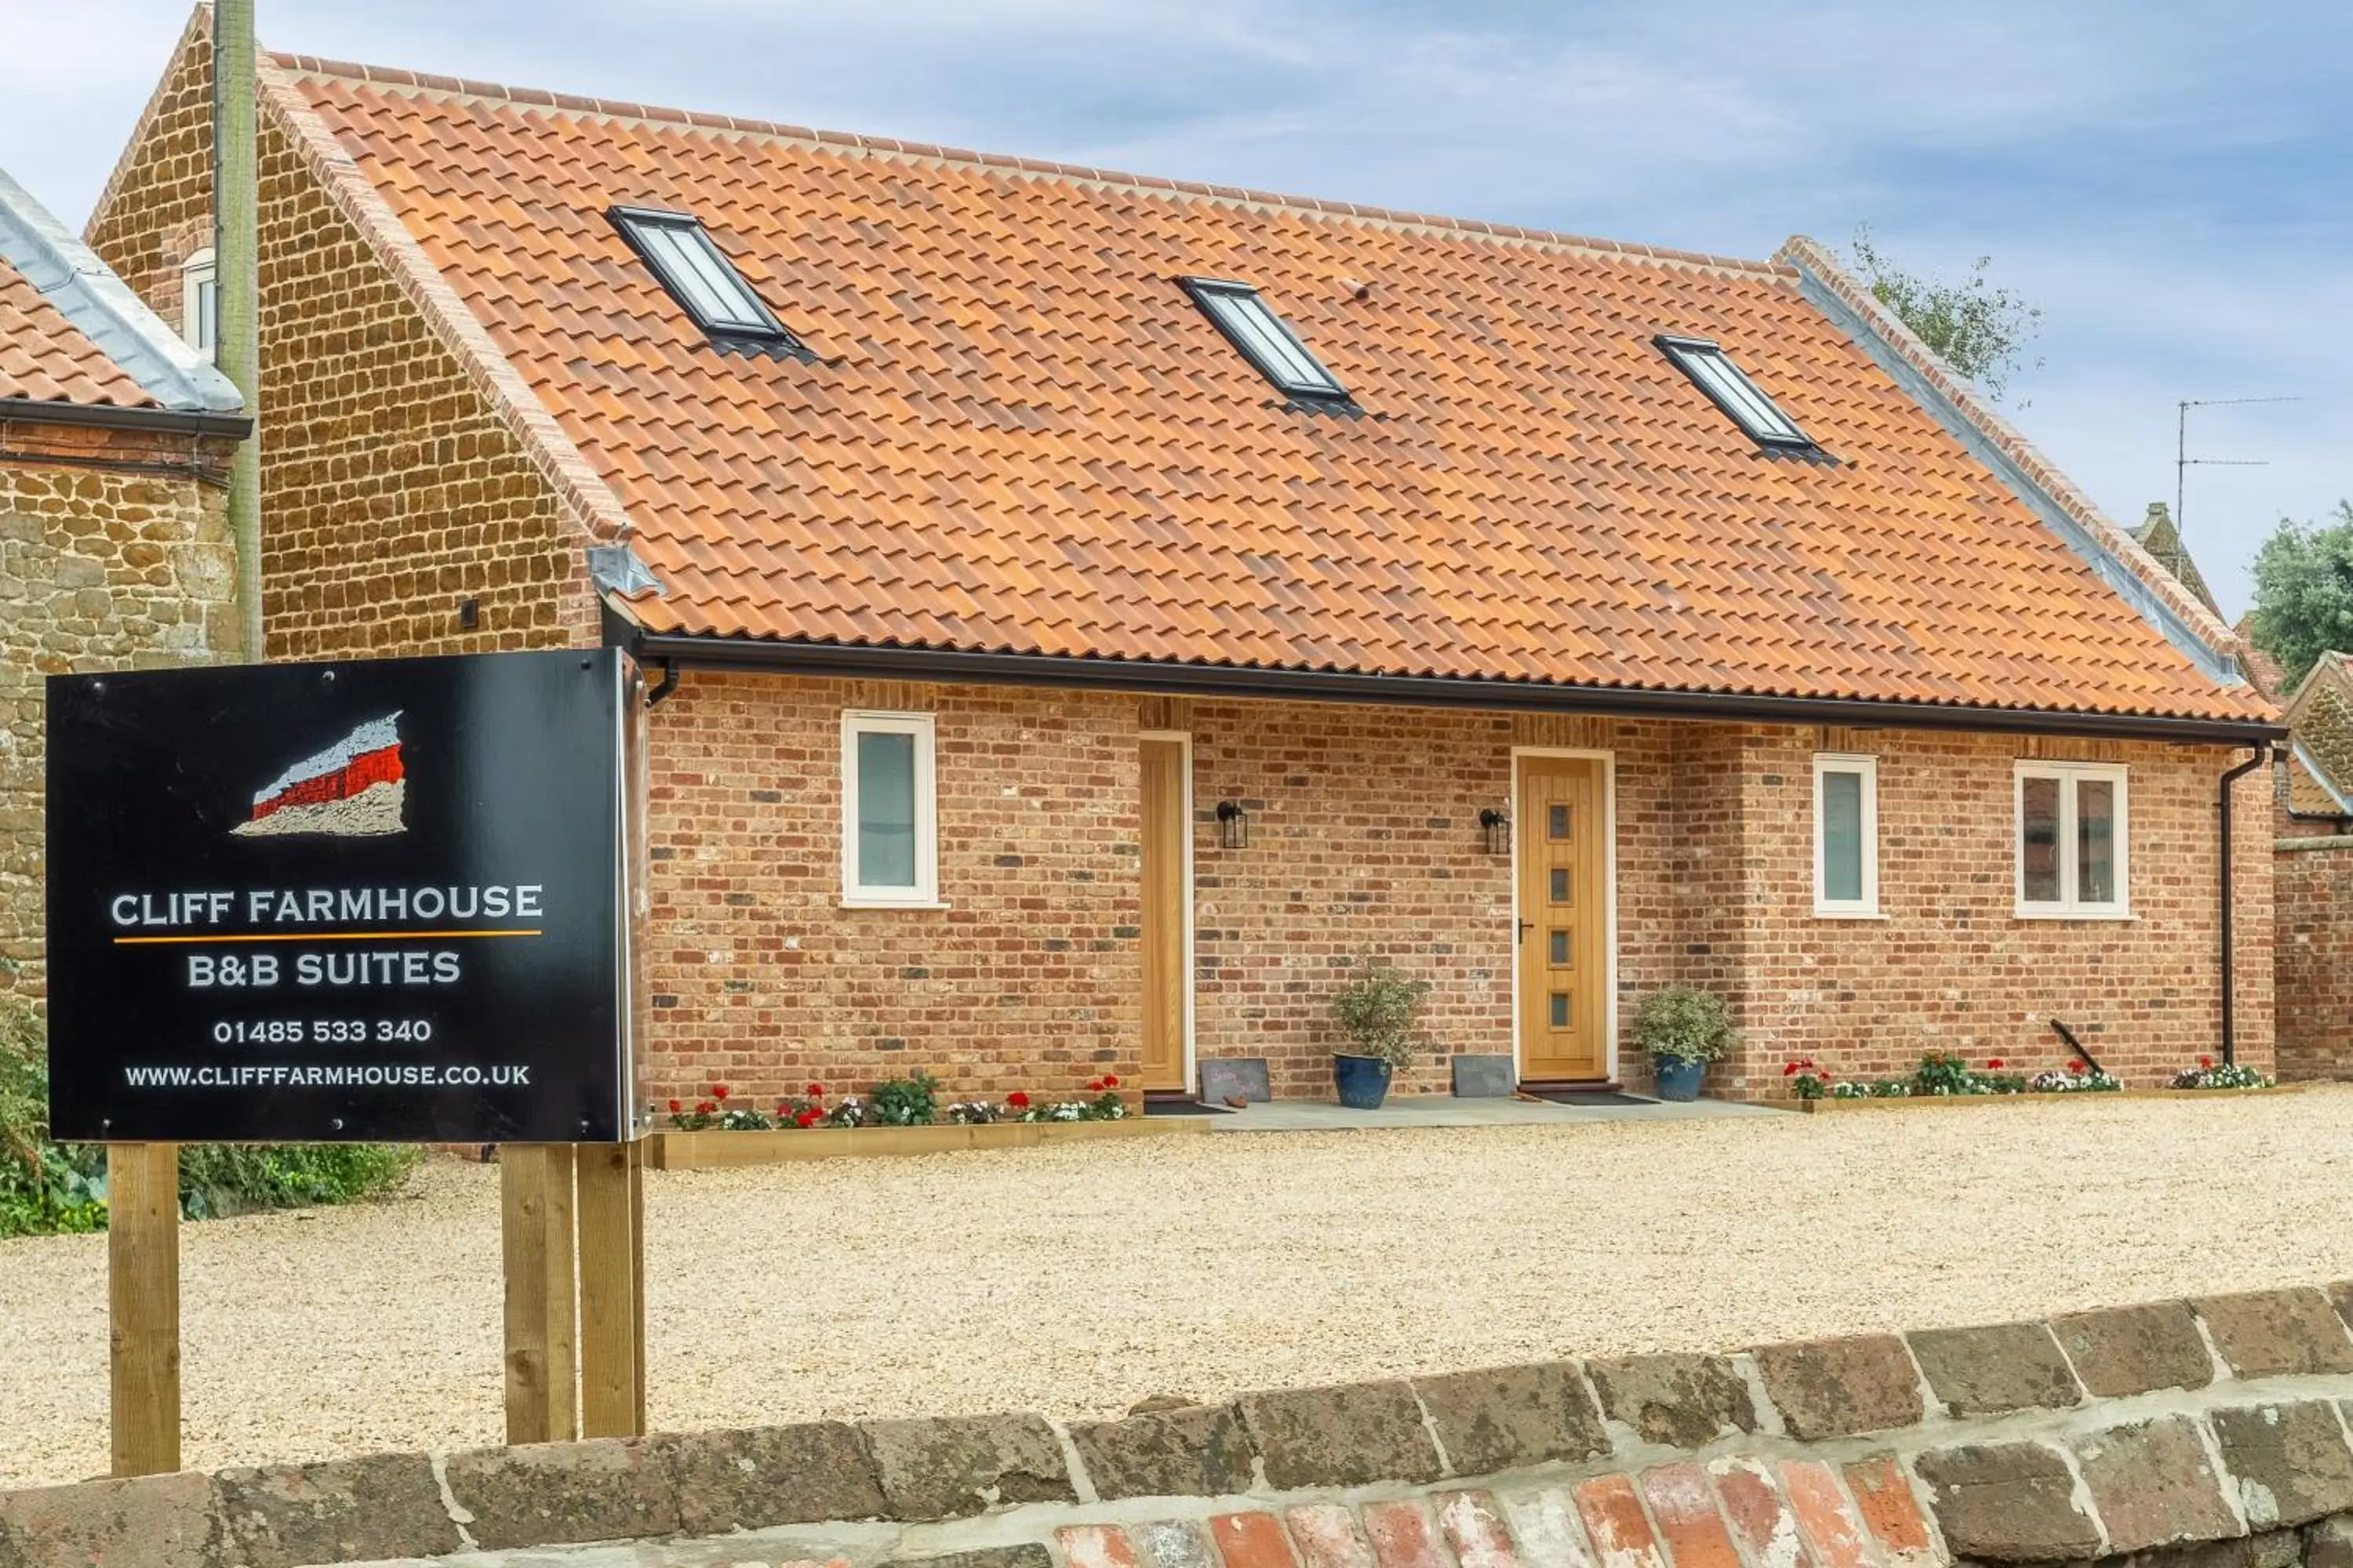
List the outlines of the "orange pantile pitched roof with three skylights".
<svg viewBox="0 0 2353 1568">
<path fill-rule="evenodd" d="M 649 630 L 2268 717 L 2101 581 L 2146 571 L 2113 527 L 2089 562 L 1798 266 L 306 56 L 266 78 L 626 520 Z M 713 353 L 612 205 L 701 216 L 816 360 Z M 1287 407 L 1179 275 L 1259 284 L 1360 414 Z M 1762 456 L 1661 331 L 1720 341 L 1835 461 Z"/>
</svg>

